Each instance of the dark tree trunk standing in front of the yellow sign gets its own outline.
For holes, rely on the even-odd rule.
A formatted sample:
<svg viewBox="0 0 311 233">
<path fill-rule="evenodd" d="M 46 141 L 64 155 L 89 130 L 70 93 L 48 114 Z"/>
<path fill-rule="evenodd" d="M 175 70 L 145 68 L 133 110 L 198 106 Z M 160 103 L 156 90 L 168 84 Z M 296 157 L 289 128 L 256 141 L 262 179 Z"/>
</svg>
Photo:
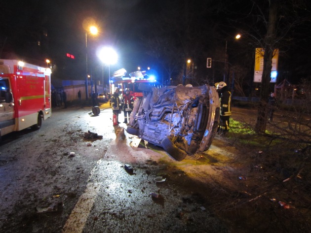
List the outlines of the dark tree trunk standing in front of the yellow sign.
<svg viewBox="0 0 311 233">
<path fill-rule="evenodd" d="M 260 103 L 258 106 L 257 122 L 255 131 L 257 133 L 264 133 L 267 126 L 267 103 L 269 97 L 269 86 L 271 80 L 271 69 L 272 69 L 272 57 L 274 52 L 275 42 L 275 25 L 277 19 L 277 0 L 270 0 L 269 6 L 269 21 L 268 31 L 264 40 L 265 43 L 265 54 L 264 54 L 264 67 L 263 75 L 261 80 L 260 89 Z"/>
</svg>

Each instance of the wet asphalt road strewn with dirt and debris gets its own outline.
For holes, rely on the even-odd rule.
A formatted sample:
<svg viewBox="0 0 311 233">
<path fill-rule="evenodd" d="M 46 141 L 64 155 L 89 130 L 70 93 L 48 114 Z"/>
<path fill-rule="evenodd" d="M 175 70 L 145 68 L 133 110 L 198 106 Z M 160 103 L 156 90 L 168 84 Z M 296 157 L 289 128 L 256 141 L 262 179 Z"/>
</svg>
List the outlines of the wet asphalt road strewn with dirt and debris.
<svg viewBox="0 0 311 233">
<path fill-rule="evenodd" d="M 173 161 L 125 124 L 114 127 L 106 107 L 98 116 L 59 108 L 39 131 L 3 138 L 0 232 L 229 232 L 204 197 L 219 171 L 206 159 Z M 85 139 L 88 132 L 102 137 Z M 210 158 L 224 154 L 212 148 Z"/>
</svg>

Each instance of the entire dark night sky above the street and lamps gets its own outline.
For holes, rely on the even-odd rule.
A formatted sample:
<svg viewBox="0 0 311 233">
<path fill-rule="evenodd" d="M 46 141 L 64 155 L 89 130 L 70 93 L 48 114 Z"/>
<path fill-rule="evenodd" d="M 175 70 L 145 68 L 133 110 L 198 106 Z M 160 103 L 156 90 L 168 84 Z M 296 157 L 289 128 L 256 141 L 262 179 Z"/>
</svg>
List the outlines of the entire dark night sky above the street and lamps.
<svg viewBox="0 0 311 233">
<path fill-rule="evenodd" d="M 255 2 L 263 9 L 268 5 L 268 0 Z M 291 30 L 288 34 L 295 40 L 287 40 L 288 44 L 280 47 L 279 67 L 284 67 L 283 78 L 298 80 L 297 77 L 310 75 L 311 7 L 308 4 L 309 8 L 300 8 L 304 20 L 309 17 L 307 23 Z M 256 7 L 250 0 L 5 0 L 1 9 L 1 58 L 24 59 L 42 66 L 48 58 L 57 65 L 52 77 L 55 79 L 85 77 L 83 22 L 86 19 L 95 22 L 99 29 L 96 37 L 88 36 L 89 69 L 94 76 L 99 76 L 102 69 L 96 50 L 111 46 L 119 57 L 117 64 L 111 66 L 112 71 L 125 68 L 129 73 L 137 66 L 150 66 L 161 67 L 164 74 L 165 64 L 170 64 L 179 67 L 173 73 L 177 76 L 183 59 L 191 57 L 202 78 L 214 75 L 221 79 L 228 41 L 230 63 L 248 67 L 251 77 L 254 49 L 260 43 L 247 40 L 252 36 L 244 36 L 238 43 L 231 37 L 239 30 L 264 35 L 260 26 L 252 25 L 256 23 L 252 16 L 254 12 L 256 15 Z M 66 53 L 74 55 L 75 60 L 66 58 Z M 169 57 L 173 55 L 174 59 Z M 213 74 L 206 70 L 207 57 L 213 58 L 216 70 Z"/>
</svg>

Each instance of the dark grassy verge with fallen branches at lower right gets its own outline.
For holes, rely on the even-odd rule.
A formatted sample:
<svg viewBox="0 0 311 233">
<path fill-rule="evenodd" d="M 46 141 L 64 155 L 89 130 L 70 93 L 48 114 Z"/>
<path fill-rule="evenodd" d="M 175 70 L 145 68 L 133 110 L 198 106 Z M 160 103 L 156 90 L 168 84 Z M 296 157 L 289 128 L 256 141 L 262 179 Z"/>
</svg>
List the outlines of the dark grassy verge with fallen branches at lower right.
<svg viewBox="0 0 311 233">
<path fill-rule="evenodd" d="M 311 148 L 293 141 L 282 123 L 257 134 L 250 124 L 230 119 L 224 147 L 234 142 L 239 152 L 223 180 L 233 185 L 215 185 L 210 200 L 233 232 L 311 232 Z M 247 180 L 237 180 L 240 174 Z"/>
</svg>

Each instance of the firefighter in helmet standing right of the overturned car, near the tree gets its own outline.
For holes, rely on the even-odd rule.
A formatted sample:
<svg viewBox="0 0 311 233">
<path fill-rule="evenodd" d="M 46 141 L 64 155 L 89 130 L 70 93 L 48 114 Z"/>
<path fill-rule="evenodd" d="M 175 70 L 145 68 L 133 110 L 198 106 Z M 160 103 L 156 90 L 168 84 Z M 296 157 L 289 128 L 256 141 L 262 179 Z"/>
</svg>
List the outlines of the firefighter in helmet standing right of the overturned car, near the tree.
<svg viewBox="0 0 311 233">
<path fill-rule="evenodd" d="M 220 120 L 217 133 L 226 134 L 230 127 L 231 116 L 231 92 L 225 82 L 215 83 L 219 94 Z"/>
</svg>

